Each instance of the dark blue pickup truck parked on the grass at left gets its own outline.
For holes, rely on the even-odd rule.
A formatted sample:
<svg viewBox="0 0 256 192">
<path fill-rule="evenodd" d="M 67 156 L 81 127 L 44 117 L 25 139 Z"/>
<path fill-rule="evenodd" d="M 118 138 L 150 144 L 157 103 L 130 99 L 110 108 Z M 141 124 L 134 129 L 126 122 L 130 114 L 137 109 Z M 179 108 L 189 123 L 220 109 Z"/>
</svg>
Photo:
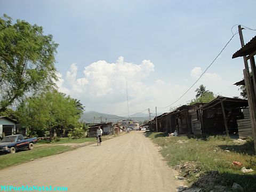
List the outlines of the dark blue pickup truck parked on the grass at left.
<svg viewBox="0 0 256 192">
<path fill-rule="evenodd" d="M 37 138 L 24 139 L 22 134 L 15 134 L 6 136 L 0 141 L 0 152 L 15 153 L 17 150 L 28 148 L 29 150 L 34 148 L 34 143 L 37 142 Z"/>
</svg>

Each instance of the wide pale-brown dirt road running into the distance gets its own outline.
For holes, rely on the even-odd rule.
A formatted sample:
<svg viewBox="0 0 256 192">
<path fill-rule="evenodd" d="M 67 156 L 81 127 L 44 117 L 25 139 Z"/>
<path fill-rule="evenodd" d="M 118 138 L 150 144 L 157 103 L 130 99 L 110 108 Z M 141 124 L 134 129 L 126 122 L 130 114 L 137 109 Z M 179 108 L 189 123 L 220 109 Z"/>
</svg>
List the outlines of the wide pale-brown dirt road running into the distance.
<svg viewBox="0 0 256 192">
<path fill-rule="evenodd" d="M 15 154 L 14 154 L 15 155 Z M 0 185 L 67 187 L 68 191 L 175 191 L 181 185 L 156 146 L 134 131 L 0 171 Z"/>
</svg>

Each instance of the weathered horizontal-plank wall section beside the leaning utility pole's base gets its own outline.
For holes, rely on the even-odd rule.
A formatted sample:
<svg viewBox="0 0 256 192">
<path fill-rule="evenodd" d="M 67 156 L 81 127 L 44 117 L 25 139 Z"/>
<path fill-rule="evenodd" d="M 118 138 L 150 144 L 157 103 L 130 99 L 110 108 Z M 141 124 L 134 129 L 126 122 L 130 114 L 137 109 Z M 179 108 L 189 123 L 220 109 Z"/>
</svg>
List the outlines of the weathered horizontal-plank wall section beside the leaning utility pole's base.
<svg viewBox="0 0 256 192">
<path fill-rule="evenodd" d="M 249 136 L 252 137 L 252 127 L 249 108 L 243 109 L 243 114 L 243 119 L 237 119 L 239 139 L 245 139 Z"/>
</svg>

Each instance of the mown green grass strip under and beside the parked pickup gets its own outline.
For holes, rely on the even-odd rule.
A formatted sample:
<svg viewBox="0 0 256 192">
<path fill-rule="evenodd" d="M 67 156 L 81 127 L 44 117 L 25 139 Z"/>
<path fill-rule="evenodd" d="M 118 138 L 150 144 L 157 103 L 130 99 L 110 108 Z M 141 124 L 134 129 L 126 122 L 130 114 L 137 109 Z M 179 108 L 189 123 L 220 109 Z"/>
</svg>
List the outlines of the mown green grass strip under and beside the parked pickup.
<svg viewBox="0 0 256 192">
<path fill-rule="evenodd" d="M 21 150 L 15 154 L 0 155 L 0 169 L 11 166 L 14 164 L 20 164 L 23 162 L 31 161 L 37 158 L 56 155 L 65 151 L 71 150 L 69 146 L 35 146 L 33 150 Z"/>
</svg>

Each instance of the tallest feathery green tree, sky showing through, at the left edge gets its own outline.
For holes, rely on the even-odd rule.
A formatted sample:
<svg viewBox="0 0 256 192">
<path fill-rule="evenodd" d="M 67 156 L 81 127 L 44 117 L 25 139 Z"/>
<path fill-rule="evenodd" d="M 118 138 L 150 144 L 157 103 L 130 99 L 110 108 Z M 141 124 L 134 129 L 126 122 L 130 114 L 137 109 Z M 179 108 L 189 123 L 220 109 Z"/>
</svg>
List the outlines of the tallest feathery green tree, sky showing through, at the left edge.
<svg viewBox="0 0 256 192">
<path fill-rule="evenodd" d="M 53 85 L 57 47 L 43 27 L 24 20 L 12 24 L 6 14 L 0 18 L 0 112 Z"/>
</svg>

